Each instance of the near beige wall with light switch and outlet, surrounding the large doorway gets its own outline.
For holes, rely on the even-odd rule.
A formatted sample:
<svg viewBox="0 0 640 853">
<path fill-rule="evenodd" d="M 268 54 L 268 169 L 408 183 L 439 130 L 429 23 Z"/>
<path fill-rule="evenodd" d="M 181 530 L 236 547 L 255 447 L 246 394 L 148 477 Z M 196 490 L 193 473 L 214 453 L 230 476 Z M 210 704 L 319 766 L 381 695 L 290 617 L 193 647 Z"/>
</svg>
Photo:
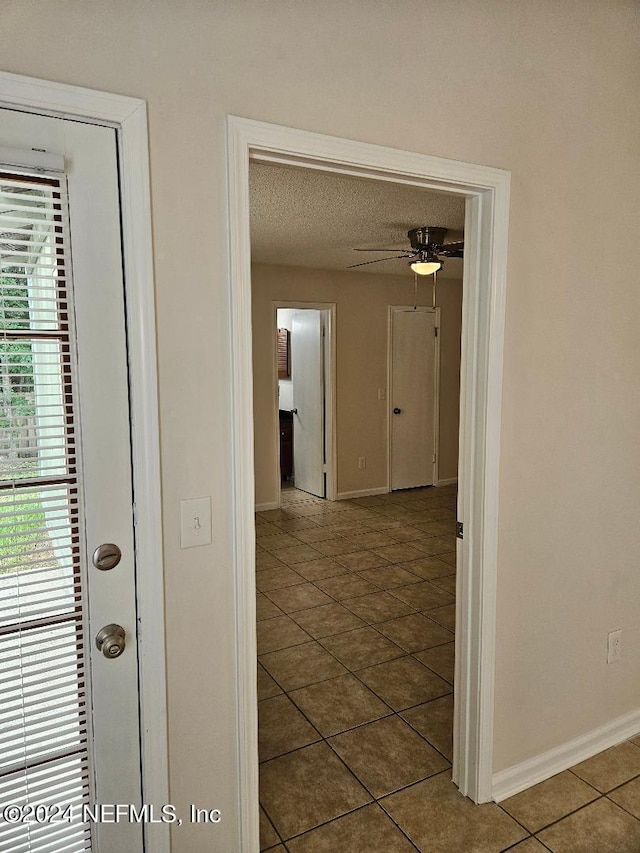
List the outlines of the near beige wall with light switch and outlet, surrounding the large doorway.
<svg viewBox="0 0 640 853">
<path fill-rule="evenodd" d="M 174 853 L 238 850 L 228 113 L 511 170 L 495 769 L 640 707 L 638 4 L 321 8 L 4 0 L 0 13 L 4 70 L 149 105 L 171 796 L 223 813 L 215 831 L 176 829 Z M 178 502 L 206 494 L 213 545 L 181 551 Z M 623 659 L 607 667 L 619 627 Z"/>
</svg>

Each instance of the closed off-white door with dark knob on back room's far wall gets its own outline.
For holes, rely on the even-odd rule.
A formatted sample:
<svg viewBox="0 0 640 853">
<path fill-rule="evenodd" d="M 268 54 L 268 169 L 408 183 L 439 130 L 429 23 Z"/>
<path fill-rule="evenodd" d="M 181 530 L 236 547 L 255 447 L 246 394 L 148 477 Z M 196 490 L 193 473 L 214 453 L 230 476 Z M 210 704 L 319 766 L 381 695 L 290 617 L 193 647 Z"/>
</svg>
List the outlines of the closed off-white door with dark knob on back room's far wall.
<svg viewBox="0 0 640 853">
<path fill-rule="evenodd" d="M 435 312 L 391 312 L 391 488 L 433 484 Z"/>
</svg>

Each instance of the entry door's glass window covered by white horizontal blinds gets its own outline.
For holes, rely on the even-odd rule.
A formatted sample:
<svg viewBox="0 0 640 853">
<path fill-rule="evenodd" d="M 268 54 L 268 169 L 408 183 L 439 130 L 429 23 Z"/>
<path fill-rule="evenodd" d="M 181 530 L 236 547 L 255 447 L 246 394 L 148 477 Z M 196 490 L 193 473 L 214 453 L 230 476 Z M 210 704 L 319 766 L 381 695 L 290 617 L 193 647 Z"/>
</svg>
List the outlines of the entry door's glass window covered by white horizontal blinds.
<svg viewBox="0 0 640 853">
<path fill-rule="evenodd" d="M 0 803 L 77 817 L 90 703 L 66 215 L 64 180 L 0 172 Z M 69 811 L 23 817 L 0 850 L 91 849 Z"/>
</svg>

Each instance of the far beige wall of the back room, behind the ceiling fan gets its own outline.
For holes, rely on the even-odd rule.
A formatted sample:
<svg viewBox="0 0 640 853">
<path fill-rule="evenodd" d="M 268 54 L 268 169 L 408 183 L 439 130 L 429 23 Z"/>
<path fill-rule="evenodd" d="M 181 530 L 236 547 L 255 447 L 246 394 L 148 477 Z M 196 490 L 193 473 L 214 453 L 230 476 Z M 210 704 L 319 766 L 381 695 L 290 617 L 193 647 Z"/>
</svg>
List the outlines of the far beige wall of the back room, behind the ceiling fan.
<svg viewBox="0 0 640 853">
<path fill-rule="evenodd" d="M 460 397 L 462 283 L 440 277 L 441 429 L 440 477 L 456 476 Z M 275 473 L 273 303 L 336 303 L 336 421 L 338 495 L 387 486 L 387 387 L 389 305 L 413 304 L 411 276 L 311 270 L 254 264 L 253 371 L 256 503 L 278 500 Z M 431 279 L 419 288 L 420 305 L 431 304 Z M 366 468 L 358 468 L 365 456 Z"/>
</svg>

